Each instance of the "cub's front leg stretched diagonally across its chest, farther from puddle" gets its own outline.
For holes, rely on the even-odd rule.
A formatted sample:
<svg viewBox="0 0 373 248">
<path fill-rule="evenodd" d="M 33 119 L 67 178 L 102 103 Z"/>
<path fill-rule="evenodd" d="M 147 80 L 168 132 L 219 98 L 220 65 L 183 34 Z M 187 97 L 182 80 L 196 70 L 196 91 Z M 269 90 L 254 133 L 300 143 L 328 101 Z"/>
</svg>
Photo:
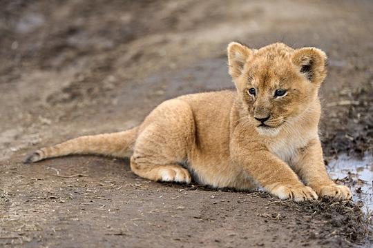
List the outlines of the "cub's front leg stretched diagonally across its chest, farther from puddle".
<svg viewBox="0 0 373 248">
<path fill-rule="evenodd" d="M 236 139 L 235 139 L 236 141 Z M 260 145 L 231 143 L 231 159 L 241 165 L 267 192 L 280 199 L 295 201 L 317 199 L 311 187 L 303 185 L 285 162 Z"/>
</svg>

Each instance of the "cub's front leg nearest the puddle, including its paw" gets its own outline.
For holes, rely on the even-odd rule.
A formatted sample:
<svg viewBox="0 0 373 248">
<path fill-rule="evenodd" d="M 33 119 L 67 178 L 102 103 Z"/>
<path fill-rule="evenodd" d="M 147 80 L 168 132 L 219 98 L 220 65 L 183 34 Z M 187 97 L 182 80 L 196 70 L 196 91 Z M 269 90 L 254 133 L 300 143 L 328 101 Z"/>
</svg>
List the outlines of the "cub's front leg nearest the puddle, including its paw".
<svg viewBox="0 0 373 248">
<path fill-rule="evenodd" d="M 306 185 L 312 187 L 319 196 L 332 196 L 341 199 L 350 199 L 352 194 L 348 187 L 337 185 L 327 175 L 321 142 L 315 139 L 306 147 L 300 149 L 294 161 L 294 170 Z"/>
</svg>

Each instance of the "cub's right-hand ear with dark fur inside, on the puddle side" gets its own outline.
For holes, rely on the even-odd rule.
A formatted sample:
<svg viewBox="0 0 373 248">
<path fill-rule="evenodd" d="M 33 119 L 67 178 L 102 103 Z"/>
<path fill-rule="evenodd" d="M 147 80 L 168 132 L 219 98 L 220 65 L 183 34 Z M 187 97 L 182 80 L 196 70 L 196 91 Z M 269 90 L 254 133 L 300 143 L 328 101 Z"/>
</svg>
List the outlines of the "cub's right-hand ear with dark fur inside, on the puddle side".
<svg viewBox="0 0 373 248">
<path fill-rule="evenodd" d="M 322 83 L 327 74 L 325 63 L 327 56 L 318 48 L 300 48 L 291 58 L 299 72 L 312 83 Z"/>
</svg>

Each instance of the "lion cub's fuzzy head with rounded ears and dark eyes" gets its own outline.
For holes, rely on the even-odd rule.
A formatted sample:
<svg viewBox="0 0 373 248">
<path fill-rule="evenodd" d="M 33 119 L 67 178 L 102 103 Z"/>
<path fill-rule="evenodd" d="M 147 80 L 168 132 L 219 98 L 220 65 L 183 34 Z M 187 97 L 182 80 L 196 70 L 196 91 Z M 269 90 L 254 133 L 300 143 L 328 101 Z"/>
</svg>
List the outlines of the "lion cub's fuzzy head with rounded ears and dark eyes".
<svg viewBox="0 0 373 248">
<path fill-rule="evenodd" d="M 326 55 L 317 48 L 294 50 L 283 43 L 259 50 L 228 45 L 229 74 L 247 112 L 246 121 L 259 134 L 278 134 L 317 99 L 325 79 Z"/>
</svg>

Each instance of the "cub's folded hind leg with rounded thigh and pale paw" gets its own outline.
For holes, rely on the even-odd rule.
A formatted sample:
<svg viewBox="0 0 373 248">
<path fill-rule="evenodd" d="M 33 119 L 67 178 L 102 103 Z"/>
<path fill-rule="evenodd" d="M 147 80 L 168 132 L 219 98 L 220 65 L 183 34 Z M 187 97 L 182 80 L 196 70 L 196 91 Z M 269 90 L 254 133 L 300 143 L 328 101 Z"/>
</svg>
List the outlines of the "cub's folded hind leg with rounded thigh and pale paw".
<svg viewBox="0 0 373 248">
<path fill-rule="evenodd" d="M 158 106 L 140 127 L 132 171 L 155 181 L 190 183 L 191 175 L 178 163 L 187 159 L 194 142 L 194 120 L 189 105 L 174 99 Z"/>
</svg>

